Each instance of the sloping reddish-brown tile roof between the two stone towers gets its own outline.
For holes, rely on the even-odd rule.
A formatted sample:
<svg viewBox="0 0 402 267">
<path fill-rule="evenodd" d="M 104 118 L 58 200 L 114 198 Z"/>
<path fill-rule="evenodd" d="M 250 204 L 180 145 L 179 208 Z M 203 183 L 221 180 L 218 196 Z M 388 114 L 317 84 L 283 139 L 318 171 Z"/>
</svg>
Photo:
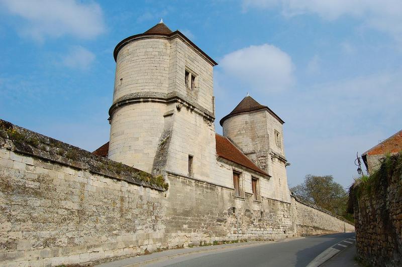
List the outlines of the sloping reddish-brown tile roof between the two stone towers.
<svg viewBox="0 0 402 267">
<path fill-rule="evenodd" d="M 229 139 L 226 137 L 215 134 L 217 156 L 224 158 L 228 161 L 240 164 L 248 169 L 251 169 L 257 173 L 269 176 L 266 172 L 257 167 L 246 155 L 243 154 Z"/>
</svg>

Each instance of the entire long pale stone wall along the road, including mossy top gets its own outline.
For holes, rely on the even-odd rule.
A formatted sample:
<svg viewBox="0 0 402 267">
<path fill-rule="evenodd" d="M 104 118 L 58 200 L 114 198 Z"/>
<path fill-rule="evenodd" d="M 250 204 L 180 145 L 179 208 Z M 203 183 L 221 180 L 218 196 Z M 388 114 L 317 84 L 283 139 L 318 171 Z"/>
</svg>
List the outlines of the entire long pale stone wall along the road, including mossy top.
<svg viewBox="0 0 402 267">
<path fill-rule="evenodd" d="M 248 181 L 251 174 L 243 172 Z M 0 261 L 93 263 L 345 229 L 343 221 L 300 202 L 264 194 L 256 201 L 247 182 L 244 197 L 235 197 L 233 181 L 220 181 L 224 186 L 174 173 L 166 179 L 168 190 L 161 177 L 0 120 Z"/>
</svg>

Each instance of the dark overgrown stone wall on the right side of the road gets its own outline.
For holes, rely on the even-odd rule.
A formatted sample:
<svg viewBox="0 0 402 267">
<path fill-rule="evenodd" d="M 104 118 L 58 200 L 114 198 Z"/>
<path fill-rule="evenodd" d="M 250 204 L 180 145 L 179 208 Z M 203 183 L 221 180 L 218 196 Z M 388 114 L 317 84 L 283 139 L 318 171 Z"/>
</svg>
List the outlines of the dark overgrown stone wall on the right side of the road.
<svg viewBox="0 0 402 267">
<path fill-rule="evenodd" d="M 402 265 L 402 153 L 352 187 L 359 258 L 372 266 Z"/>
</svg>

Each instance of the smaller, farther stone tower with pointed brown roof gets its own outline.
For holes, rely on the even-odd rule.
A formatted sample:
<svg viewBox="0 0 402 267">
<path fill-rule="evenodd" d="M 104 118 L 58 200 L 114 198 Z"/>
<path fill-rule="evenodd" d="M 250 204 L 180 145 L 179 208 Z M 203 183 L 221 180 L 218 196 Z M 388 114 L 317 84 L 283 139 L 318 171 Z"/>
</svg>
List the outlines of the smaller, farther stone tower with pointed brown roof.
<svg viewBox="0 0 402 267">
<path fill-rule="evenodd" d="M 261 105 L 249 95 L 220 121 L 223 135 L 271 176 L 270 197 L 290 202 L 283 123 L 269 107 Z"/>
</svg>

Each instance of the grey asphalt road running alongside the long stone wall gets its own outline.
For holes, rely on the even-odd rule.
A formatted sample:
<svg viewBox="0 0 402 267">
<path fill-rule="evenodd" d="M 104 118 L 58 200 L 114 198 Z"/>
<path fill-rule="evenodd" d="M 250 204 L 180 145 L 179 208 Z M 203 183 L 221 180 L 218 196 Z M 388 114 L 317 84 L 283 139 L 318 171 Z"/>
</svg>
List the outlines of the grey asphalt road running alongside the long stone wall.
<svg viewBox="0 0 402 267">
<path fill-rule="evenodd" d="M 284 242 L 184 255 L 147 266 L 307 266 L 316 256 L 355 233 L 312 236 Z"/>
</svg>

